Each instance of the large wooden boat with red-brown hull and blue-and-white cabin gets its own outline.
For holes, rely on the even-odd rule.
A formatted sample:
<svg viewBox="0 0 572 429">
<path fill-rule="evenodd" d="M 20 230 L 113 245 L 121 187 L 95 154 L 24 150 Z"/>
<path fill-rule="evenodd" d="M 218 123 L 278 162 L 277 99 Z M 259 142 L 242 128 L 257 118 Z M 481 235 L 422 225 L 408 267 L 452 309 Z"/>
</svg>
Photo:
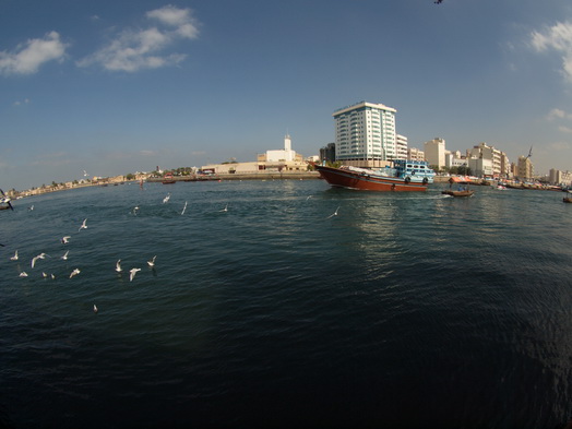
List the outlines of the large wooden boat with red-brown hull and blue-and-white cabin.
<svg viewBox="0 0 572 429">
<path fill-rule="evenodd" d="M 392 167 L 326 167 L 310 163 L 331 186 L 368 191 L 426 191 L 434 171 L 424 160 L 396 159 Z"/>
</svg>

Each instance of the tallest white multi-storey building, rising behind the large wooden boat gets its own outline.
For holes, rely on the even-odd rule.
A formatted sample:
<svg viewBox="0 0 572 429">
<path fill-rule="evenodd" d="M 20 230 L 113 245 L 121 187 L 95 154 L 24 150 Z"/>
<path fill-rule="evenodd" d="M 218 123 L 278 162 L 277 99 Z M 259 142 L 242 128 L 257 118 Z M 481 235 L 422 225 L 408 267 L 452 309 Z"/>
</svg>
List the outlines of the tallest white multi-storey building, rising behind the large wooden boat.
<svg viewBox="0 0 572 429">
<path fill-rule="evenodd" d="M 397 158 L 395 110 L 359 102 L 333 112 L 336 160 L 360 167 L 382 167 Z"/>
</svg>

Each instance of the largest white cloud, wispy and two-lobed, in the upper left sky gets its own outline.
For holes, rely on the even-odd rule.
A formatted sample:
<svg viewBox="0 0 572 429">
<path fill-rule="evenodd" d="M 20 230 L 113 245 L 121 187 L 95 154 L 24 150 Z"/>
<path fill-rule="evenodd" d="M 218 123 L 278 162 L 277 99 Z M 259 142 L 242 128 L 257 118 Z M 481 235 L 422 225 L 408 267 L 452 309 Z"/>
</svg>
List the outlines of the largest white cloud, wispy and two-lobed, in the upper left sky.
<svg viewBox="0 0 572 429">
<path fill-rule="evenodd" d="M 157 21 L 159 26 L 126 29 L 107 46 L 79 61 L 78 65 L 97 63 L 109 71 L 135 72 L 175 65 L 184 60 L 186 55 L 166 53 L 165 50 L 179 39 L 198 37 L 199 29 L 191 10 L 166 5 L 147 12 L 146 16 Z"/>
</svg>

